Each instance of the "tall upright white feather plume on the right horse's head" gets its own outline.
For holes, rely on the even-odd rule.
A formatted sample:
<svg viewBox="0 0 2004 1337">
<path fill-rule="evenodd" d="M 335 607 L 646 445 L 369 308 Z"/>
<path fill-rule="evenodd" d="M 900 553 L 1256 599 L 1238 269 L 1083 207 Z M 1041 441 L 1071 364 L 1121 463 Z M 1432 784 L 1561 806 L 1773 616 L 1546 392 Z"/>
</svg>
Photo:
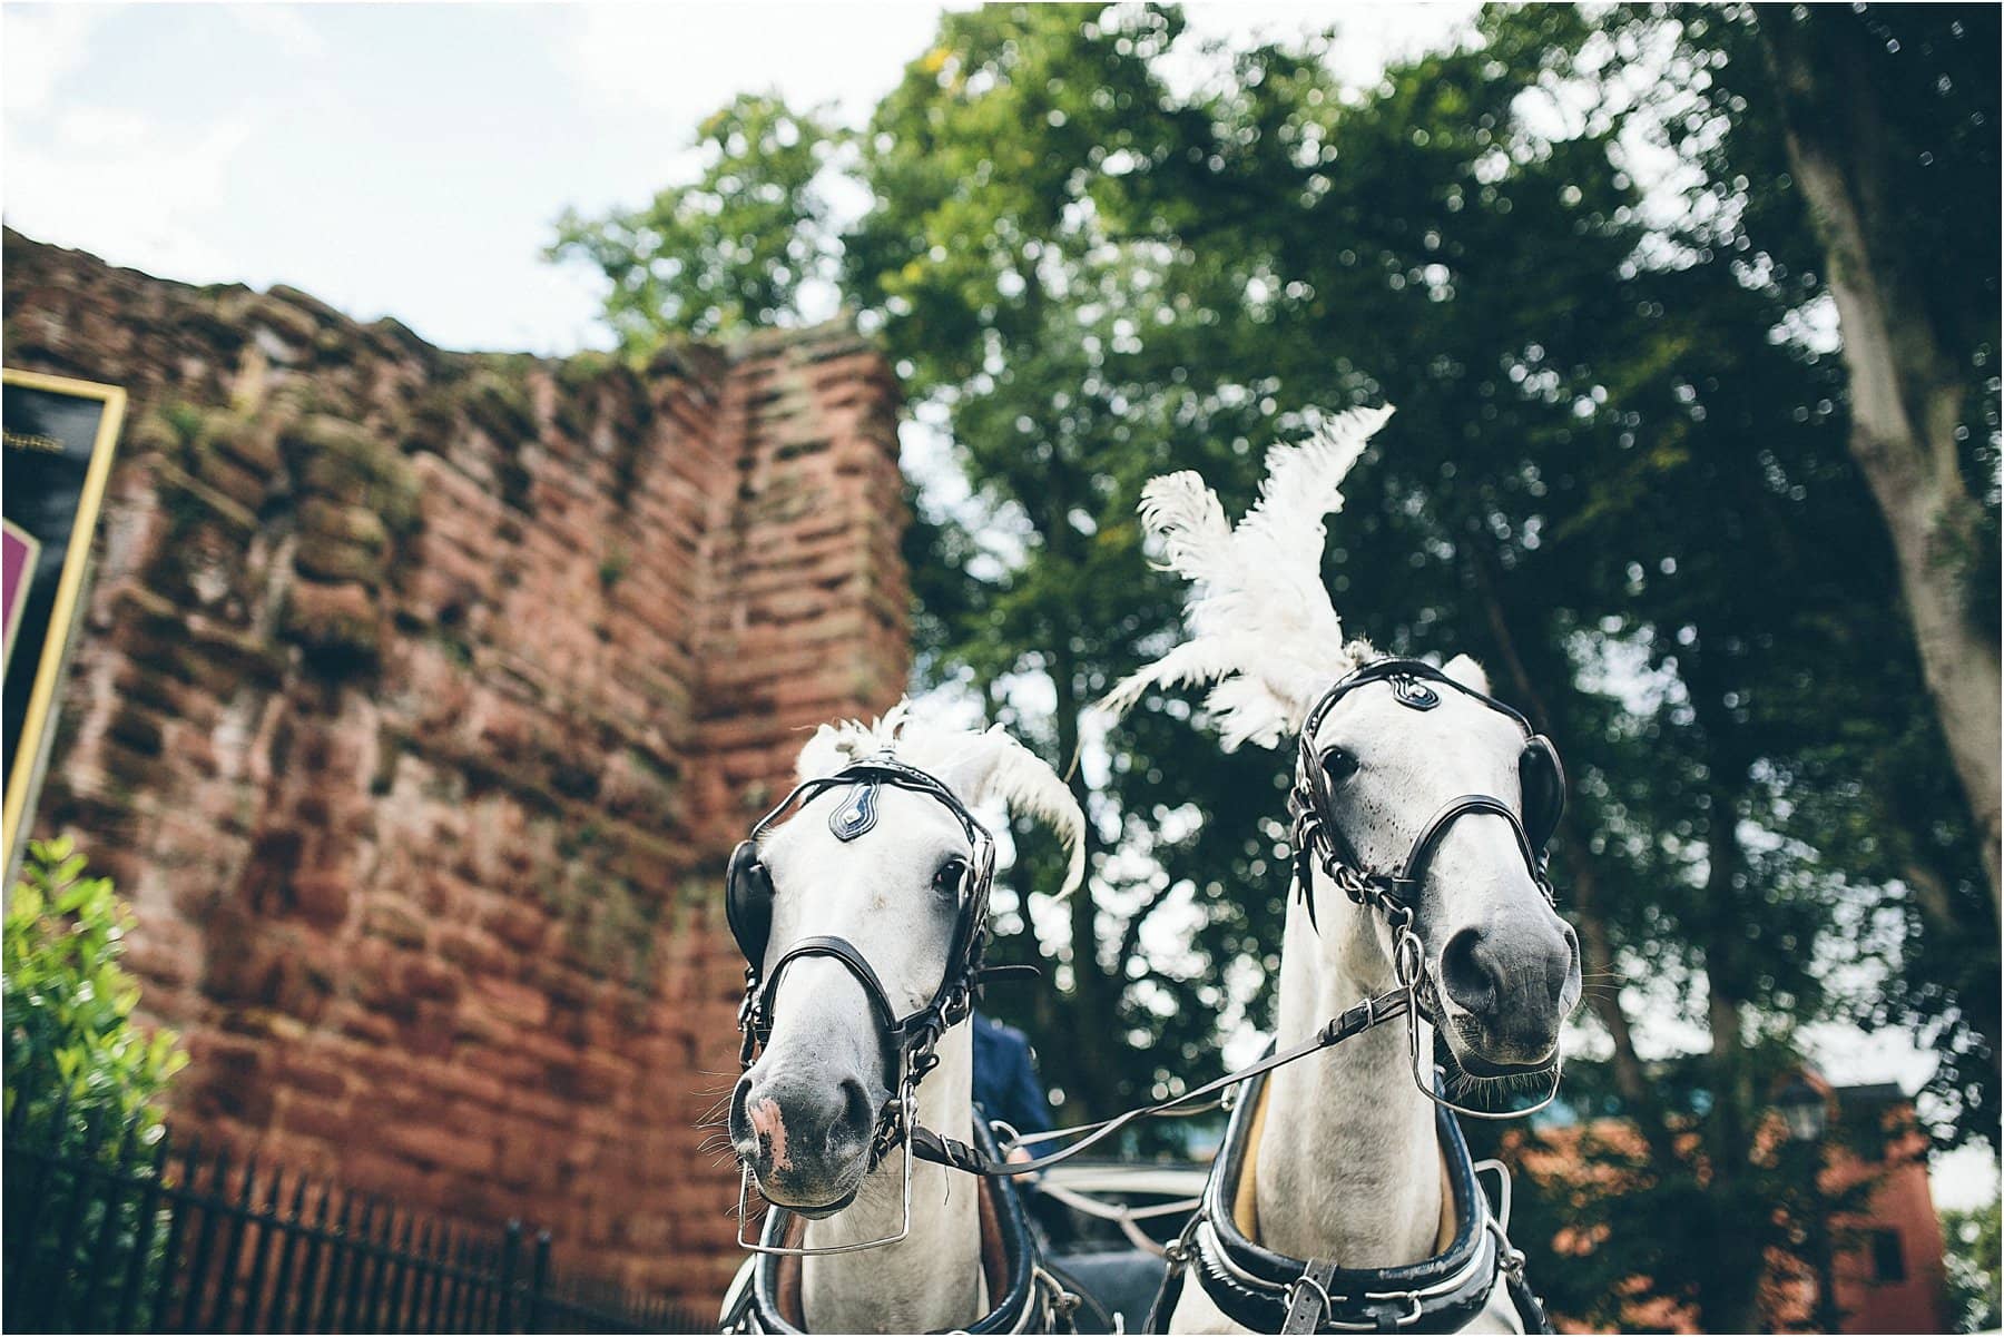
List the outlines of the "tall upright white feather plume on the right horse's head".
<svg viewBox="0 0 2004 1337">
<path fill-rule="evenodd" d="M 1277 746 L 1317 696 L 1371 653 L 1347 643 L 1323 587 L 1325 515 L 1343 509 L 1343 479 L 1391 407 L 1341 413 L 1299 445 L 1267 451 L 1267 479 L 1230 525 L 1202 477 L 1150 479 L 1140 517 L 1162 565 L 1194 585 L 1188 639 L 1114 686 L 1098 708 L 1126 714 L 1150 688 L 1216 684 L 1204 708 L 1224 750 Z"/>
</svg>

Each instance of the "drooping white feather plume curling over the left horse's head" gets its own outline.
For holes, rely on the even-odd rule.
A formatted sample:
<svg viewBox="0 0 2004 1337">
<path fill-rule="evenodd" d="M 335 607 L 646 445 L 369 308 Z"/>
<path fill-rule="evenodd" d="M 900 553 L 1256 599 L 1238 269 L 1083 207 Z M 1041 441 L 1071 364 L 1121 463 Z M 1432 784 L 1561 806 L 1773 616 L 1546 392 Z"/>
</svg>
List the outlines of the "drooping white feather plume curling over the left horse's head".
<svg viewBox="0 0 2004 1337">
<path fill-rule="evenodd" d="M 1000 724 L 980 732 L 956 730 L 918 718 L 912 702 L 904 700 L 868 724 L 824 724 L 802 746 L 796 770 L 802 780 L 814 780 L 880 754 L 938 776 L 970 808 L 1000 800 L 1012 814 L 1042 822 L 1058 834 L 1068 860 L 1058 896 L 1070 896 L 1084 880 L 1084 810 L 1058 772 Z"/>
</svg>

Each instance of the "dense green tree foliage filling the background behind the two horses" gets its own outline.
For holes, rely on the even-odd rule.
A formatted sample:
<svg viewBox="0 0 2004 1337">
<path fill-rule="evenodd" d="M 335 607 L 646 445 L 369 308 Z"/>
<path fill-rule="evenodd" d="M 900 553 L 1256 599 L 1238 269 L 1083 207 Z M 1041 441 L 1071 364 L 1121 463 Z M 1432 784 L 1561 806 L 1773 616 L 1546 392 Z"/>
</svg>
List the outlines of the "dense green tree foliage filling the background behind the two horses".
<svg viewBox="0 0 2004 1337">
<path fill-rule="evenodd" d="M 1267 443 L 1397 403 L 1331 525 L 1331 593 L 1383 649 L 1475 653 L 1561 742 L 1593 1016 L 1569 1102 L 1643 1139 L 1595 1153 L 1619 1195 L 1527 1195 L 1533 1237 L 1611 1227 L 1593 1267 L 1547 1253 L 1541 1277 L 1601 1319 L 1643 1277 L 1713 1329 L 1760 1325 L 1760 1259 L 1818 1219 L 1812 1157 L 1756 1137 L 1808 1026 L 1916 1034 L 1938 1135 L 1998 1129 L 1982 844 L 1848 449 L 1760 22 L 1491 8 L 1349 88 L 1339 34 L 1204 50 L 1172 8 L 946 14 L 854 140 L 868 208 L 840 241 L 846 299 L 968 491 L 920 497 L 922 682 L 1084 760 L 1090 894 L 1040 896 L 1056 852 L 1018 832 L 996 898 L 1000 952 L 1058 982 L 996 1006 L 1076 1115 L 1200 1080 L 1269 1020 L 1287 894 L 1279 758 L 1218 754 L 1170 696 L 1080 726 L 1176 633 L 1138 489 L 1194 467 L 1242 505 Z M 1994 126 L 1964 148 L 1994 160 Z M 1996 231 L 1972 212 L 1916 235 L 1960 255 Z M 655 333 L 679 311 L 611 307 Z M 1992 529 L 1996 399 L 1972 373 Z"/>
</svg>

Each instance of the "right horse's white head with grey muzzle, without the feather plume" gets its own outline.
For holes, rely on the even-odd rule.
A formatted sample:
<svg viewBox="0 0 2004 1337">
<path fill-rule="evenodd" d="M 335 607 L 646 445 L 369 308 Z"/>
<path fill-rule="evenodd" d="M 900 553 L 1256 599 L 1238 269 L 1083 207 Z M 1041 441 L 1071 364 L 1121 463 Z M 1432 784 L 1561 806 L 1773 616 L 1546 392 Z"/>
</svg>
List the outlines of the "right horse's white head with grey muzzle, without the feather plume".
<svg viewBox="0 0 2004 1337">
<path fill-rule="evenodd" d="M 1465 657 L 1447 676 L 1489 692 Z M 1471 1076 L 1551 1064 L 1559 1026 L 1579 1004 L 1579 940 L 1553 912 L 1535 866 L 1563 802 L 1549 746 L 1531 742 L 1515 716 L 1425 680 L 1403 690 L 1365 682 L 1311 728 L 1303 764 L 1321 772 L 1317 816 L 1345 862 L 1413 878 L 1401 896 L 1425 956 L 1425 1002 L 1455 1060 Z M 1487 796 L 1509 812 L 1453 810 L 1463 796 Z M 1435 826 L 1441 814 L 1447 820 Z M 1355 912 L 1391 960 L 1391 918 Z"/>
</svg>

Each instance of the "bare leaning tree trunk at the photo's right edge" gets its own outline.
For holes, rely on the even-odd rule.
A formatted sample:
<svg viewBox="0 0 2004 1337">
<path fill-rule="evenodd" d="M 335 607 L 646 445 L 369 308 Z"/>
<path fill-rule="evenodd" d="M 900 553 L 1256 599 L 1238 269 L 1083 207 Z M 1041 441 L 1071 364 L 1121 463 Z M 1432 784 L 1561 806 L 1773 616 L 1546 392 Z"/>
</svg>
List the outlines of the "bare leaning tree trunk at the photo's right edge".
<svg viewBox="0 0 2004 1337">
<path fill-rule="evenodd" d="M 1922 674 L 1996 900 L 2004 676 L 1994 637 L 1970 617 L 1970 567 L 1982 559 L 1984 513 L 1962 477 L 1954 435 L 1972 385 L 1944 353 L 1928 307 L 1890 263 L 1900 239 L 1886 225 L 1880 108 L 1862 72 L 1868 52 L 1856 40 L 1864 34 L 1816 40 L 1818 24 L 1858 22 L 1848 12 L 1792 20 L 1766 10 L 1760 26 L 1788 120 L 1790 162 L 1838 307 L 1852 385 L 1852 455 L 1892 535 Z"/>
</svg>

